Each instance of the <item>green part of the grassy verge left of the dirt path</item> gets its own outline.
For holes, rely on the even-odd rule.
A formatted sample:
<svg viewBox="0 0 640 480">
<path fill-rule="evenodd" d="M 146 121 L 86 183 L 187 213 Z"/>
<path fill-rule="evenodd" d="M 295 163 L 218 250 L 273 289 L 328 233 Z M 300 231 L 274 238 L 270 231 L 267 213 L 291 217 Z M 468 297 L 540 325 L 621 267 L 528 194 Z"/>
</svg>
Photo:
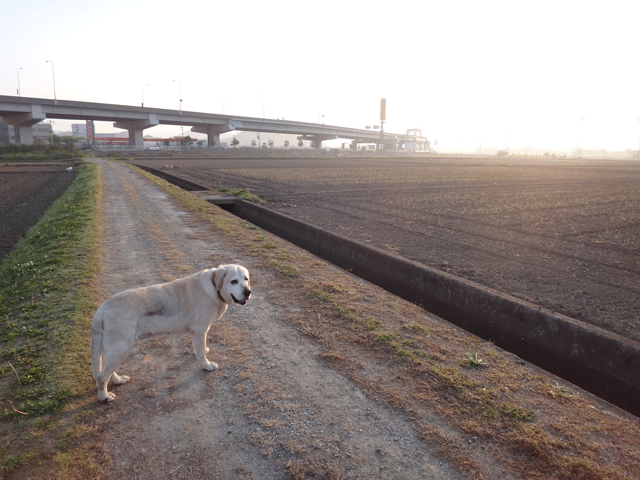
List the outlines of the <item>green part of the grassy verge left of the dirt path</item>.
<svg viewBox="0 0 640 480">
<path fill-rule="evenodd" d="M 91 384 L 98 167 L 84 162 L 77 172 L 0 265 L 3 420 L 60 411 Z"/>
</svg>

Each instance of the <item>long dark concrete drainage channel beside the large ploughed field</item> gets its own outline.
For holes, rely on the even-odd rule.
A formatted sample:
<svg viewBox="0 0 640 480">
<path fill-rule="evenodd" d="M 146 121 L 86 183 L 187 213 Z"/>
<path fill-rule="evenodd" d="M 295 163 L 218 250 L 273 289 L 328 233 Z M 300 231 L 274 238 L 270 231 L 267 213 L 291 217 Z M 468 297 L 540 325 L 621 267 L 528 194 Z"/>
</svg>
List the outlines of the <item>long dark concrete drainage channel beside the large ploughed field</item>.
<svg viewBox="0 0 640 480">
<path fill-rule="evenodd" d="M 141 168 L 186 190 L 206 190 L 166 172 Z M 639 342 L 250 202 L 206 199 L 640 416 Z"/>
</svg>

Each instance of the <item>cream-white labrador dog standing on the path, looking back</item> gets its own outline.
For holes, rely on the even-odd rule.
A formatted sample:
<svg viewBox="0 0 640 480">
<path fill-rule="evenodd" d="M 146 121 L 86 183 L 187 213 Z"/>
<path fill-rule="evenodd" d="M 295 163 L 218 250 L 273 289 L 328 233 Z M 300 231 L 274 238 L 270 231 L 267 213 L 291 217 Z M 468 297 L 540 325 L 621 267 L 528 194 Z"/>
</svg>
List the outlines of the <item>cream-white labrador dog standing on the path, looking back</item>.
<svg viewBox="0 0 640 480">
<path fill-rule="evenodd" d="M 96 311 L 91 322 L 91 370 L 98 398 L 112 401 L 107 391 L 129 377 L 116 369 L 137 340 L 168 333 L 190 333 L 193 351 L 205 370 L 218 365 L 207 360 L 207 333 L 233 304 L 251 296 L 249 272 L 240 265 L 220 265 L 169 283 L 135 288 L 114 295 Z"/>
</svg>

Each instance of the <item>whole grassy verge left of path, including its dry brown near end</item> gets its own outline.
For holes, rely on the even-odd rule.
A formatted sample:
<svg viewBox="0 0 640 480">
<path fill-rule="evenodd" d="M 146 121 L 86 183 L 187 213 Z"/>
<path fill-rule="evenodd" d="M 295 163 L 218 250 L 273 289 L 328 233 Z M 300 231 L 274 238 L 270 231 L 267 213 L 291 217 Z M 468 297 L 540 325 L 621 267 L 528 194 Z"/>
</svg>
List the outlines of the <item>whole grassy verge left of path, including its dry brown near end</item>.
<svg viewBox="0 0 640 480">
<path fill-rule="evenodd" d="M 51 158 L 48 158 L 51 160 Z M 97 303 L 98 167 L 74 183 L 0 265 L 0 478 L 95 477 L 79 439 L 93 387 L 90 321 Z"/>
</svg>

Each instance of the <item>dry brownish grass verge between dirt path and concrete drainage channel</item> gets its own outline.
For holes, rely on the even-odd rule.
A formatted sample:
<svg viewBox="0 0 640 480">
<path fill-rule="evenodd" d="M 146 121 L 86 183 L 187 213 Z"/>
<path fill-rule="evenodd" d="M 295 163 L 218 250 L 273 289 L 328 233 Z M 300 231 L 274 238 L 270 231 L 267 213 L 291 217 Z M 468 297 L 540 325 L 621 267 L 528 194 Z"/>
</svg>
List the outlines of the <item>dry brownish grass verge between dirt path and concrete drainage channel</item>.
<svg viewBox="0 0 640 480">
<path fill-rule="evenodd" d="M 495 478 L 483 465 L 487 455 L 516 478 L 640 476 L 637 422 L 612 415 L 490 343 L 358 285 L 248 222 L 141 174 L 273 269 L 288 289 L 288 301 L 314 312 L 285 320 L 325 347 L 322 357 L 332 368 L 405 412 L 425 442 L 470 477 Z M 290 292 L 296 290 L 294 299 Z M 455 435 L 432 426 L 434 414 Z M 313 466 L 296 464 L 295 470 L 307 467 Z"/>
</svg>

